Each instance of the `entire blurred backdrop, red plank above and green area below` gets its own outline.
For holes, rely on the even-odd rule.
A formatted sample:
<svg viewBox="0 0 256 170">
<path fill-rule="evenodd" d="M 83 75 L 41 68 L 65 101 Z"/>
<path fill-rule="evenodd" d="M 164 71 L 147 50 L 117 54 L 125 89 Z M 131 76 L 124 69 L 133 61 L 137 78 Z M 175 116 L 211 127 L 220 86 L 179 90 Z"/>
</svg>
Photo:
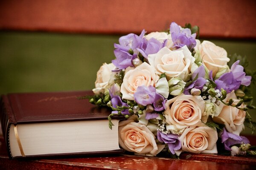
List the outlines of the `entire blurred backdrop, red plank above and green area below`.
<svg viewBox="0 0 256 170">
<path fill-rule="evenodd" d="M 172 21 L 198 25 L 201 41 L 246 56 L 256 69 L 253 0 L 215 0 L 211 6 L 203 0 L 75 2 L 0 2 L 0 94 L 91 90 L 99 67 L 114 59 L 120 36 L 168 29 Z M 256 111 L 250 113 L 256 120 Z"/>
</svg>

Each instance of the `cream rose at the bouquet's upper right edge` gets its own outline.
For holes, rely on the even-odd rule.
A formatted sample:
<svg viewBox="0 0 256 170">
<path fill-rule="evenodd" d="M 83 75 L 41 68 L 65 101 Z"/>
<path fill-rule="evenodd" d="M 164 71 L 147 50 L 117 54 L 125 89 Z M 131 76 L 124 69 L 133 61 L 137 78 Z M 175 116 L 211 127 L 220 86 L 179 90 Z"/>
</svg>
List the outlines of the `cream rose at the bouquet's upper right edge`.
<svg viewBox="0 0 256 170">
<path fill-rule="evenodd" d="M 227 57 L 227 51 L 210 41 L 203 41 L 198 45 L 198 50 L 203 59 L 204 65 L 208 70 L 212 70 L 212 76 L 215 77 L 221 68 L 227 67 L 230 59 Z"/>
</svg>

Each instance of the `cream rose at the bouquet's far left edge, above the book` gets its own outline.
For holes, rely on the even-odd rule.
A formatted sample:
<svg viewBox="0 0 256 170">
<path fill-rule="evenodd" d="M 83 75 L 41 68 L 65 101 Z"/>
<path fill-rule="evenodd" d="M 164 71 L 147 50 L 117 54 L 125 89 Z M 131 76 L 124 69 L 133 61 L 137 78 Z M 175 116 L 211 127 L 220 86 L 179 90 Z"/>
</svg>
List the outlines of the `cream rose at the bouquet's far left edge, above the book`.
<svg viewBox="0 0 256 170">
<path fill-rule="evenodd" d="M 94 94 L 104 93 L 105 88 L 108 85 L 108 81 L 111 78 L 112 70 L 115 69 L 115 66 L 110 63 L 103 63 L 103 65 L 97 71 L 97 78 L 95 81 L 95 88 L 93 89 Z"/>
</svg>

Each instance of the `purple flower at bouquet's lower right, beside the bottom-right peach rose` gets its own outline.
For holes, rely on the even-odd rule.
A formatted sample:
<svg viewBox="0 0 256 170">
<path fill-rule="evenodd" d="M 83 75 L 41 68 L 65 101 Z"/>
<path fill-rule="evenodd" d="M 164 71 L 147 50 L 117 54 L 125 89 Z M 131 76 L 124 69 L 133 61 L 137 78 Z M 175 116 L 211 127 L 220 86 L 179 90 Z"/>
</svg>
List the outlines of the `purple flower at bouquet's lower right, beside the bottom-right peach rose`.
<svg viewBox="0 0 256 170">
<path fill-rule="evenodd" d="M 248 144 L 250 141 L 244 136 L 229 133 L 223 128 L 223 131 L 221 132 L 221 143 L 224 143 L 225 150 L 231 150 L 230 146 L 234 144 Z"/>
</svg>

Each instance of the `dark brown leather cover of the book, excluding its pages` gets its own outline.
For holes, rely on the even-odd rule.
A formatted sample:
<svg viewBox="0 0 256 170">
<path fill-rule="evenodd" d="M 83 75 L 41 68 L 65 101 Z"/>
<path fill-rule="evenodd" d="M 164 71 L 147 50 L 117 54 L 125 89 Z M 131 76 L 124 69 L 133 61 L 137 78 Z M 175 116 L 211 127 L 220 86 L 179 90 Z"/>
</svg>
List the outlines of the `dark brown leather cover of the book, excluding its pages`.
<svg viewBox="0 0 256 170">
<path fill-rule="evenodd" d="M 10 147 L 8 131 L 11 124 L 107 119 L 111 113 L 110 109 L 97 107 L 88 99 L 78 99 L 78 97 L 86 95 L 93 95 L 93 93 L 91 91 L 73 91 L 2 95 L 0 119 L 7 148 Z M 112 153 L 120 152 L 122 150 L 115 150 Z M 84 154 L 87 155 L 87 153 L 70 155 Z M 10 153 L 9 156 L 12 157 Z"/>
</svg>

